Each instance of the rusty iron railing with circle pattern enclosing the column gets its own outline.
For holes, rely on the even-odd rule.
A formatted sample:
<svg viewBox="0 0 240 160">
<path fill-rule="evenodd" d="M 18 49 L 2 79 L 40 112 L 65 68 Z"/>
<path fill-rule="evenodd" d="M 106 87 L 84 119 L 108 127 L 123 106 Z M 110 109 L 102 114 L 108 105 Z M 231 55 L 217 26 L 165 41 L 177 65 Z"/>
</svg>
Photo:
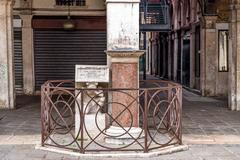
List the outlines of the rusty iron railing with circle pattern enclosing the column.
<svg viewBox="0 0 240 160">
<path fill-rule="evenodd" d="M 147 80 L 140 82 L 139 89 L 77 89 L 73 81 L 48 81 L 41 88 L 41 121 L 42 146 L 52 146 L 79 153 L 95 151 L 142 151 L 182 144 L 182 87 L 178 84 L 162 81 Z M 97 91 L 94 97 L 91 92 Z M 137 93 L 137 94 L 132 94 Z M 96 97 L 104 95 L 101 104 Z M 114 95 L 128 97 L 122 102 L 122 110 L 113 116 L 111 113 L 115 101 Z M 133 96 L 135 95 L 135 96 Z M 86 102 L 86 98 L 87 103 Z M 97 106 L 91 123 L 87 122 L 86 111 L 90 104 Z M 134 114 L 129 109 L 134 104 L 138 107 L 138 136 L 131 135 Z M 119 123 L 119 117 L 128 114 L 129 126 Z M 76 126 L 78 114 L 79 126 Z M 99 124 L 99 116 L 104 115 L 104 127 Z M 136 117 L 135 117 L 136 118 Z M 95 125 L 97 132 L 88 130 Z M 115 125 L 124 133 L 109 135 L 107 129 Z M 129 143 L 109 144 L 106 138 L 117 138 L 127 135 Z"/>
</svg>

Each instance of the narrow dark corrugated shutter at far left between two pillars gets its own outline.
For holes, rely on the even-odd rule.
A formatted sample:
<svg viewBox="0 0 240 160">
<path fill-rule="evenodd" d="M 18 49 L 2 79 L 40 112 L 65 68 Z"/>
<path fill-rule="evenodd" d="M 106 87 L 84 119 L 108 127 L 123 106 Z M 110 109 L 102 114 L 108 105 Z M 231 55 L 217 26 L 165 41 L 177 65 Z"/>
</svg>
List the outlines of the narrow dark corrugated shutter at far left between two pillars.
<svg viewBox="0 0 240 160">
<path fill-rule="evenodd" d="M 23 58 L 22 58 L 22 30 L 14 28 L 14 73 L 15 90 L 18 93 L 23 91 Z"/>
</svg>

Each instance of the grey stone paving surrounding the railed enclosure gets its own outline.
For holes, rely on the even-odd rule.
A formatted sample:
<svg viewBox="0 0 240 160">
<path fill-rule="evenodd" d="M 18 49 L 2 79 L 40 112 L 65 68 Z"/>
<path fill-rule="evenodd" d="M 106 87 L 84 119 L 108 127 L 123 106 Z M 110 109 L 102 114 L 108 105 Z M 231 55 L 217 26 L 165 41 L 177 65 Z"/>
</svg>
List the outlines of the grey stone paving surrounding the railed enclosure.
<svg viewBox="0 0 240 160">
<path fill-rule="evenodd" d="M 40 99 L 18 97 L 17 106 L 19 109 L 13 111 L 0 110 L 0 160 L 103 159 L 36 150 L 36 144 L 40 143 Z M 239 160 L 240 112 L 230 111 L 226 106 L 222 99 L 204 98 L 184 91 L 183 140 L 189 150 L 148 159 Z"/>
</svg>

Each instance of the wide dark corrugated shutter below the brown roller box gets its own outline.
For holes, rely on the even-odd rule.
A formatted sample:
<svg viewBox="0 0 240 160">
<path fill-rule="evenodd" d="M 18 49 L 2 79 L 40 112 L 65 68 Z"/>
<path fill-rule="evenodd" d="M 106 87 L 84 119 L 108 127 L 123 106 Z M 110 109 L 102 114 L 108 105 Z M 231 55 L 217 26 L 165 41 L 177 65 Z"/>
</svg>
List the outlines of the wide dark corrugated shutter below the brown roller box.
<svg viewBox="0 0 240 160">
<path fill-rule="evenodd" d="M 106 31 L 34 30 L 36 90 L 47 80 L 74 79 L 75 65 L 106 65 Z"/>
</svg>

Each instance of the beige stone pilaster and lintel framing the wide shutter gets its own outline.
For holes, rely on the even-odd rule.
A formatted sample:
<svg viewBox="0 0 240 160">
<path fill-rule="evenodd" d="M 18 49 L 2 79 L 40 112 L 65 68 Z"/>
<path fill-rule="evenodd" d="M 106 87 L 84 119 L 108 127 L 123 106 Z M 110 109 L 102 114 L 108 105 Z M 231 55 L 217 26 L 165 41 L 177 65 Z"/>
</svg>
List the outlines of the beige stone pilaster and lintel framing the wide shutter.
<svg viewBox="0 0 240 160">
<path fill-rule="evenodd" d="M 33 94 L 35 77 L 32 17 L 66 16 L 68 6 L 56 6 L 55 0 L 15 0 L 13 11 L 14 15 L 19 15 L 22 19 L 23 91 L 25 94 Z M 86 0 L 86 6 L 71 6 L 70 14 L 71 16 L 106 16 L 105 0 Z"/>
</svg>

